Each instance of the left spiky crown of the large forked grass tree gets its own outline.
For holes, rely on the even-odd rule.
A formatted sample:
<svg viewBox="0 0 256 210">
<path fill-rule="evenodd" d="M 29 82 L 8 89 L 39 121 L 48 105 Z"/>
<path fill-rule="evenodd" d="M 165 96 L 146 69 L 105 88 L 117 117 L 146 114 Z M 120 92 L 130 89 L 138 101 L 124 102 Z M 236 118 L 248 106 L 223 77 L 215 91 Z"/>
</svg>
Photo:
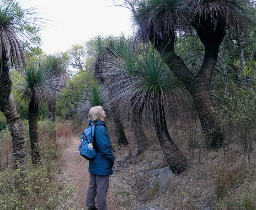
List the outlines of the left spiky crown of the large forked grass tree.
<svg viewBox="0 0 256 210">
<path fill-rule="evenodd" d="M 139 0 L 134 23 L 139 26 L 137 36 L 148 40 L 157 36 L 175 36 L 188 26 L 188 6 L 185 0 Z"/>
</svg>

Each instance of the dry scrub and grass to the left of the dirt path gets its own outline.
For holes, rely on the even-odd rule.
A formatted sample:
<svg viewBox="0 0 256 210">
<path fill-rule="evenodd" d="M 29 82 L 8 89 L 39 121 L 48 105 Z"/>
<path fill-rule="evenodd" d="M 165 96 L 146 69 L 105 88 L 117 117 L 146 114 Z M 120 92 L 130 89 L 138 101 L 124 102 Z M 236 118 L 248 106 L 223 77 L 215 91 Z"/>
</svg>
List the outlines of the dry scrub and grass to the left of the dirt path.
<svg viewBox="0 0 256 210">
<path fill-rule="evenodd" d="M 72 130 L 67 121 L 57 122 L 57 141 L 51 139 L 52 124 L 49 121 L 38 122 L 39 146 L 41 163 L 34 166 L 29 156 L 30 142 L 28 137 L 28 125 L 26 126 L 26 168 L 11 169 L 12 161 L 5 162 L 0 172 L 0 209 L 56 209 L 59 205 L 70 209 L 69 205 L 64 205 L 74 192 L 75 187 L 63 188 L 62 183 L 56 180 L 57 175 L 64 165 L 62 153 L 69 143 Z M 8 130 L 2 131 L 8 138 L 5 142 L 11 144 L 11 136 Z M 2 153 L 1 157 L 5 157 Z M 8 154 L 12 154 L 9 147 Z M 6 158 L 5 158 L 6 159 Z M 12 159 L 12 158 L 11 158 Z M 1 162 L 2 164 L 3 162 Z M 1 167 L 2 167 L 1 166 Z M 10 169 L 7 169 L 10 168 Z"/>
</svg>

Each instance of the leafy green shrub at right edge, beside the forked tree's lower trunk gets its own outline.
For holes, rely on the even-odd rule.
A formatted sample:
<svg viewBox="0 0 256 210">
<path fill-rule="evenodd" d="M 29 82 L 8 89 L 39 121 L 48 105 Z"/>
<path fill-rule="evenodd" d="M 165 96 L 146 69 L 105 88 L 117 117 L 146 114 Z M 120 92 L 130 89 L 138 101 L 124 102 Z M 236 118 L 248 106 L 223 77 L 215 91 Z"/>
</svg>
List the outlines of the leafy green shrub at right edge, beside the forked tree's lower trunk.
<svg viewBox="0 0 256 210">
<path fill-rule="evenodd" d="M 255 87 L 240 88 L 232 84 L 232 92 L 225 92 L 217 108 L 226 140 L 238 141 L 250 163 L 250 152 L 256 130 Z"/>
</svg>

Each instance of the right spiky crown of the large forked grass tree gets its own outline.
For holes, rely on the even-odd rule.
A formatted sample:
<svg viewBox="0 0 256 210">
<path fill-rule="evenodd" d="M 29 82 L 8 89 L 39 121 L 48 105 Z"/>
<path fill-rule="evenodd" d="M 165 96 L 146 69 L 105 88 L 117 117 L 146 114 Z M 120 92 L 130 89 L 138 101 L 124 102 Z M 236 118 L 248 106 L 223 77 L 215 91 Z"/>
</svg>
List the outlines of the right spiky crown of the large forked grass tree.
<svg viewBox="0 0 256 210">
<path fill-rule="evenodd" d="M 200 19 L 221 24 L 223 30 L 238 32 L 245 27 L 248 16 L 247 0 L 189 0 L 192 22 Z"/>
</svg>

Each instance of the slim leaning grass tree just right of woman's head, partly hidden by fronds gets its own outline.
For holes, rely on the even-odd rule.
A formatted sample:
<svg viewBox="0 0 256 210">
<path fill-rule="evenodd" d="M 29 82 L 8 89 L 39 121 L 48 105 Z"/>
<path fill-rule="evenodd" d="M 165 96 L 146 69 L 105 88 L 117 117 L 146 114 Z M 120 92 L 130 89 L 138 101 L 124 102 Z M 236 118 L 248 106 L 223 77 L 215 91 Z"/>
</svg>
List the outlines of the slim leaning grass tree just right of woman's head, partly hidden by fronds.
<svg viewBox="0 0 256 210">
<path fill-rule="evenodd" d="M 92 46 L 91 55 L 94 57 L 94 63 L 92 65 L 92 71 L 95 74 L 96 79 L 99 79 L 101 84 L 105 84 L 105 80 L 107 78 L 102 76 L 104 71 L 104 60 L 106 55 L 109 53 L 107 49 L 108 43 L 107 40 L 102 39 L 100 36 L 97 37 L 96 42 L 94 42 L 94 46 Z M 115 100 L 112 97 L 111 87 L 109 89 L 109 100 L 110 100 L 110 108 L 112 111 L 112 116 L 115 124 L 115 133 L 117 136 L 117 144 L 127 145 L 128 141 L 124 132 L 123 123 L 119 111 L 119 107 Z"/>
</svg>

